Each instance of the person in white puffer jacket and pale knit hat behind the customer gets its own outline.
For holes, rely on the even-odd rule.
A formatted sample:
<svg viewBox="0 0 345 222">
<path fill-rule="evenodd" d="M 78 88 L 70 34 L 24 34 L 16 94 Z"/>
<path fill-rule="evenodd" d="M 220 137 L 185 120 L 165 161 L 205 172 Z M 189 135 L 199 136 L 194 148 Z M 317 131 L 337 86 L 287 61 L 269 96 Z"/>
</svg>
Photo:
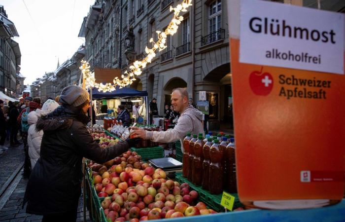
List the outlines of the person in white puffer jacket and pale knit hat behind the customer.
<svg viewBox="0 0 345 222">
<path fill-rule="evenodd" d="M 34 169 L 34 166 L 39 158 L 39 152 L 43 137 L 43 130 L 39 132 L 36 131 L 36 122 L 42 115 L 47 115 L 48 113 L 54 111 L 57 107 L 59 107 L 59 104 L 57 102 L 48 99 L 43 104 L 42 110 L 36 109 L 36 111 L 32 111 L 28 114 L 28 123 L 30 124 L 28 130 L 28 146 L 32 169 Z"/>
</svg>

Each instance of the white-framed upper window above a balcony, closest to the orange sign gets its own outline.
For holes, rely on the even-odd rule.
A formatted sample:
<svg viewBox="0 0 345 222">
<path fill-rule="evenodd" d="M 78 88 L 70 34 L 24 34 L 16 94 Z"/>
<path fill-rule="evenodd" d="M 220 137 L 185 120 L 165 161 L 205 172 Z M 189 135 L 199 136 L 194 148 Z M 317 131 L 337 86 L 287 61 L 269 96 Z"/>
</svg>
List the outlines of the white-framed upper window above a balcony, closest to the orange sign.
<svg viewBox="0 0 345 222">
<path fill-rule="evenodd" d="M 213 1 L 208 9 L 208 33 L 211 34 L 221 29 L 222 1 Z"/>
</svg>

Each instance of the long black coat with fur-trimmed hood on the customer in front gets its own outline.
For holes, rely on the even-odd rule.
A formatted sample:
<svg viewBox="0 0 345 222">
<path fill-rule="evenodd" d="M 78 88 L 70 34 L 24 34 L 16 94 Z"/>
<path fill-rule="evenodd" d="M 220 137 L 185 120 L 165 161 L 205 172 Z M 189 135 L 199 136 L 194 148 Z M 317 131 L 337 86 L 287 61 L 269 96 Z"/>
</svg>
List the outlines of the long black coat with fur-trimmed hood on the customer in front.
<svg viewBox="0 0 345 222">
<path fill-rule="evenodd" d="M 76 209 L 81 194 L 82 158 L 104 163 L 128 150 L 127 142 L 100 148 L 87 131 L 89 118 L 73 107 L 60 106 L 39 119 L 43 130 L 38 159 L 25 192 L 26 212 L 36 215 L 61 214 Z"/>
</svg>

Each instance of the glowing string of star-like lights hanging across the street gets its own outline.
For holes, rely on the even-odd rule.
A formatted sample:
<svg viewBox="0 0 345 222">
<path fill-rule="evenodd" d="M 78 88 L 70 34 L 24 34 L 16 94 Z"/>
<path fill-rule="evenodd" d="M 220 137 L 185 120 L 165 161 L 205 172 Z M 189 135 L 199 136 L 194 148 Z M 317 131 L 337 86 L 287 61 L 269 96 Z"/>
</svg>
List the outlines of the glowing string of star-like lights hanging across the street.
<svg viewBox="0 0 345 222">
<path fill-rule="evenodd" d="M 160 52 L 167 47 L 168 35 L 173 36 L 177 32 L 178 25 L 183 21 L 183 16 L 180 15 L 180 12 L 186 12 L 187 8 L 191 5 L 192 0 L 183 0 L 182 3 L 177 4 L 176 7 L 170 6 L 170 11 L 174 12 L 173 19 L 170 21 L 167 29 L 164 32 L 156 31 L 158 40 L 156 42 L 153 38 L 149 40 L 149 42 L 152 42 L 153 47 L 145 47 L 146 57 L 141 61 L 135 61 L 133 65 L 129 67 L 129 71 L 125 71 L 124 74 L 121 75 L 121 78 L 115 77 L 113 83 L 96 83 L 95 74 L 90 73 L 89 63 L 84 60 L 81 61 L 82 65 L 80 66 L 80 70 L 82 70 L 83 76 L 86 79 L 86 88 L 96 87 L 99 91 L 111 92 L 115 90 L 116 86 L 122 88 L 132 84 L 136 80 L 135 76 L 142 74 L 142 69 L 144 69 L 147 64 L 151 63 L 152 59 L 156 56 L 156 51 L 158 50 Z"/>
</svg>

